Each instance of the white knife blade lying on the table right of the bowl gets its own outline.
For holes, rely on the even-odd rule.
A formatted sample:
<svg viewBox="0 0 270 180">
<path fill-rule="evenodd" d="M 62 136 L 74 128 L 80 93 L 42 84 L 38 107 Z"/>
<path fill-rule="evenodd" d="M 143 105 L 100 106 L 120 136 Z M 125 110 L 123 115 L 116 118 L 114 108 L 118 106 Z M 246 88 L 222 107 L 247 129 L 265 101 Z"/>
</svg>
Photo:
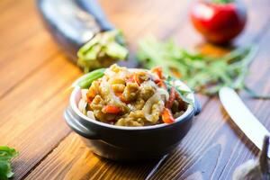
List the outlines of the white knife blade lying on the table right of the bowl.
<svg viewBox="0 0 270 180">
<path fill-rule="evenodd" d="M 260 150 L 263 148 L 264 138 L 270 135 L 266 127 L 257 120 L 252 112 L 242 102 L 238 94 L 229 87 L 222 87 L 219 92 L 220 102 L 229 113 L 240 130 L 250 139 Z M 268 157 L 269 152 L 268 152 Z"/>
</svg>

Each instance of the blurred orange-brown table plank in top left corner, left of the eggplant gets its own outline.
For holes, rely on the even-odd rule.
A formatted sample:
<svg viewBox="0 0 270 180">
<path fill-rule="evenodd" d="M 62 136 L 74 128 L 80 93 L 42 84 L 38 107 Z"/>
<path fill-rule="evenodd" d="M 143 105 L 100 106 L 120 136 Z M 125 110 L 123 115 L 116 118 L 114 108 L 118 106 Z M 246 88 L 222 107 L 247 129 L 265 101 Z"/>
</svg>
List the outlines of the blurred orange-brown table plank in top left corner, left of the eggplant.
<svg viewBox="0 0 270 180">
<path fill-rule="evenodd" d="M 11 93 L 15 85 L 58 52 L 35 8 L 34 1 L 20 1 L 9 7 L 10 11 L 3 10 L 0 18 L 0 98 Z"/>
</svg>

